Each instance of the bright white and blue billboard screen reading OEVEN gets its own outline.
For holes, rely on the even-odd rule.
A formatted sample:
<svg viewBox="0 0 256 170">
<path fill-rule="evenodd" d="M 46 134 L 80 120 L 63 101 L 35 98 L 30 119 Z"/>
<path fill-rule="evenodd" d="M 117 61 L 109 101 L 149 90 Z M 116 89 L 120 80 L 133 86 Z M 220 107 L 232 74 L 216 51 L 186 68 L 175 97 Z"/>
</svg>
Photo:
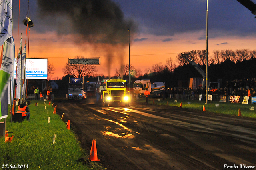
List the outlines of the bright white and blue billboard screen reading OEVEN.
<svg viewBox="0 0 256 170">
<path fill-rule="evenodd" d="M 16 78 L 16 66 L 15 62 L 14 78 Z M 26 74 L 27 79 L 47 79 L 47 59 L 26 58 Z"/>
</svg>

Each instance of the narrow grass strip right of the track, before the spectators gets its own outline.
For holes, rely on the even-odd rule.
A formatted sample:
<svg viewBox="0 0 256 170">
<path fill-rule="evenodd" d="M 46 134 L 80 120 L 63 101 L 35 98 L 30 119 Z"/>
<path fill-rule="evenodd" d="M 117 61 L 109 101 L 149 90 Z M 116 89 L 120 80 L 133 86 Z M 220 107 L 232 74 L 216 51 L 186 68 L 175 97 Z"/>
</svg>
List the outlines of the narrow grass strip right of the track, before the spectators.
<svg viewBox="0 0 256 170">
<path fill-rule="evenodd" d="M 146 103 L 145 98 L 140 98 L 137 100 L 140 103 Z M 218 102 L 218 101 L 209 101 L 208 104 L 205 104 L 206 101 L 198 101 L 198 100 L 174 100 L 162 98 L 150 98 L 149 104 L 158 104 L 158 105 L 167 105 L 168 106 L 176 106 L 180 107 L 182 104 L 182 108 L 188 109 L 196 109 L 203 110 L 203 106 L 205 106 L 206 111 L 214 112 L 219 114 L 230 114 L 234 116 L 238 116 L 238 110 L 240 109 L 242 116 L 256 118 L 256 104 L 241 104 L 241 103 L 230 103 L 230 102 Z M 190 102 L 190 103 L 189 103 Z M 217 107 L 216 107 L 217 105 Z M 255 110 L 250 110 L 250 107 L 255 107 Z"/>
</svg>

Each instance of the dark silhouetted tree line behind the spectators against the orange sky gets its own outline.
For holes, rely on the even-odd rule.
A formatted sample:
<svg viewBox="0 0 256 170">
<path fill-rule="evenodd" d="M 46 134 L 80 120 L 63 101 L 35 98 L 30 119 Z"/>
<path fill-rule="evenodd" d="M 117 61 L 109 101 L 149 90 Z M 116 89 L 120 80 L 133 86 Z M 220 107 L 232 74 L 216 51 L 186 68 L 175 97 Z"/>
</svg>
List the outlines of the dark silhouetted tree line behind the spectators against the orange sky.
<svg viewBox="0 0 256 170">
<path fill-rule="evenodd" d="M 206 51 L 205 50 L 192 50 L 190 52 L 183 52 L 189 56 L 202 70 L 206 70 Z M 166 60 L 166 64 L 161 62 L 156 63 L 152 68 L 147 68 L 145 73 L 138 76 L 131 75 L 131 87 L 135 80 L 150 79 L 151 82 L 164 81 L 166 88 L 174 88 L 181 86 L 179 82 L 183 82 L 183 87 L 188 87 L 189 78 L 202 77 L 202 75 L 191 65 L 182 58 L 181 53 L 176 57 L 178 66 L 176 66 L 172 58 Z M 127 64 L 124 65 L 127 68 Z M 222 79 L 222 86 L 226 82 L 232 82 L 236 79 L 251 79 L 256 78 L 256 50 L 250 51 L 248 49 L 241 50 L 214 50 L 213 55 L 209 56 L 208 60 L 208 76 L 209 81 L 217 82 Z M 133 67 L 132 67 L 133 68 Z M 132 70 L 132 69 L 131 69 Z M 134 68 L 134 70 L 136 70 Z M 117 72 L 117 71 L 116 71 Z M 141 70 L 139 70 L 141 72 Z M 127 70 L 126 70 L 127 73 Z M 115 75 L 117 78 L 117 74 Z M 119 75 L 120 76 L 120 75 Z M 68 88 L 68 75 L 64 76 L 62 80 L 57 80 L 60 89 L 67 90 Z M 108 78 L 107 76 L 100 76 L 100 79 Z M 124 74 L 123 79 L 129 81 L 129 75 Z M 87 76 L 85 81 L 96 82 L 98 76 Z"/>
</svg>

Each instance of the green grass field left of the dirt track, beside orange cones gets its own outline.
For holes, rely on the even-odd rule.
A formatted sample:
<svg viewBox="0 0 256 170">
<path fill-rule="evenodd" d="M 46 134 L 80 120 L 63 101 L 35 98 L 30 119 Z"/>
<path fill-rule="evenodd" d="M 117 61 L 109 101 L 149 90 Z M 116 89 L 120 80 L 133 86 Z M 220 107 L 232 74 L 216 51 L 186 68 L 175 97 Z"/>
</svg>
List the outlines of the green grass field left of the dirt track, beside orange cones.
<svg viewBox="0 0 256 170">
<path fill-rule="evenodd" d="M 8 114 L 6 130 L 13 132 L 14 140 L 5 143 L 4 137 L 0 137 L 0 168 L 5 168 L 3 164 L 12 164 L 26 165 L 31 170 L 103 169 L 97 163 L 84 161 L 89 158 L 90 151 L 82 150 L 72 130 L 66 128 L 60 116 L 53 114 L 52 105 L 46 102 L 46 109 L 44 106 L 43 101 L 39 101 L 38 106 L 32 101 L 29 122 L 11 123 Z"/>
</svg>

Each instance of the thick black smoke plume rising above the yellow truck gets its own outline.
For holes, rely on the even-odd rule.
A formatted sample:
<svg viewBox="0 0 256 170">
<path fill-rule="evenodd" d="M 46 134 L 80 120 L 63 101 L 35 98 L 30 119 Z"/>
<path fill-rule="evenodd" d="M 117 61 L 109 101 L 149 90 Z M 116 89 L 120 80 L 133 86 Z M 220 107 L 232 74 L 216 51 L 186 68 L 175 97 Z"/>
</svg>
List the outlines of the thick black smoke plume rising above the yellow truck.
<svg viewBox="0 0 256 170">
<path fill-rule="evenodd" d="M 107 56 L 107 74 L 116 59 L 124 64 L 124 48 L 137 32 L 131 19 L 125 20 L 111 0 L 37 0 L 41 17 L 50 18 L 58 35 L 72 34 L 76 44 L 90 43 Z M 128 30 L 132 30 L 129 31 Z M 130 39 L 129 39 L 130 38 Z M 97 52 L 95 52 L 97 53 Z M 102 54 L 102 53 L 101 53 Z M 119 55 L 119 58 L 113 58 Z M 115 60 L 114 60 L 115 59 Z"/>
</svg>

